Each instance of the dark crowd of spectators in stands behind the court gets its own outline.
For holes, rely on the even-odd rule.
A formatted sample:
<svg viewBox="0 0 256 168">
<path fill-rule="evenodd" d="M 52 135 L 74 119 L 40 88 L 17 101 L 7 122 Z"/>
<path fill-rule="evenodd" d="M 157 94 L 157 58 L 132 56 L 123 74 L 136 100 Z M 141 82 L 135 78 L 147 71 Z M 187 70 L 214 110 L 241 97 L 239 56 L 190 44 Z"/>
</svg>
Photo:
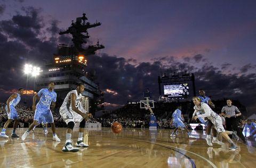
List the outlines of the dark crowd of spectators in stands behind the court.
<svg viewBox="0 0 256 168">
<path fill-rule="evenodd" d="M 214 101 L 215 110 L 219 112 L 223 104 L 226 101 L 217 100 Z M 235 102 L 236 106 L 243 112 L 245 107 L 241 105 L 239 102 Z M 157 119 L 157 127 L 161 129 L 173 129 L 174 125 L 171 122 L 172 113 L 176 109 L 178 103 L 163 103 L 157 102 L 155 103 L 155 108 L 153 109 L 154 114 Z M 191 122 L 191 114 L 193 113 L 192 102 L 179 102 L 179 105 L 182 106 L 182 114 L 185 117 L 185 125 L 190 128 L 189 123 Z M 19 127 L 29 127 L 29 124 L 33 122 L 34 112 L 31 110 L 31 107 L 26 107 L 22 105 L 17 105 L 19 113 Z M 55 111 L 52 111 L 54 122 L 56 127 L 66 127 L 66 123 L 63 122 L 62 117 L 58 112 L 58 108 Z M 110 127 L 111 124 L 115 121 L 121 123 L 124 128 L 148 128 L 149 126 L 149 111 L 145 109 L 141 109 L 139 103 L 138 104 L 129 104 L 127 103 L 125 106 L 118 108 L 117 110 L 111 111 L 109 113 L 103 114 L 100 117 L 93 117 L 89 122 L 93 123 L 101 123 L 102 127 Z M 5 103 L 0 103 L 0 127 L 3 127 L 3 124 L 7 121 L 7 114 L 5 112 Z M 193 121 L 195 123 L 195 121 Z M 199 122 L 198 122 L 199 123 Z M 241 120 L 239 123 L 239 127 L 242 129 L 244 127 L 245 121 Z M 9 125 L 12 127 L 12 124 Z M 198 125 L 196 128 L 202 128 L 202 125 Z"/>
</svg>

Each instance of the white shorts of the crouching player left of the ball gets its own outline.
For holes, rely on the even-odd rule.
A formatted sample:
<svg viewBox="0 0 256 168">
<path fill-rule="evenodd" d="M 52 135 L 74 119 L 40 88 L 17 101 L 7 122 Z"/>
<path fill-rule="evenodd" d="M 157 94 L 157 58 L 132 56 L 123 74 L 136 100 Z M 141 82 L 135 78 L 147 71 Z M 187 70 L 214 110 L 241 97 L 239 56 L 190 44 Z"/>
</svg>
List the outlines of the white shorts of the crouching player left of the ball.
<svg viewBox="0 0 256 168">
<path fill-rule="evenodd" d="M 73 110 L 69 110 L 67 107 L 60 107 L 60 115 L 63 117 L 66 124 L 68 124 L 70 121 L 73 121 L 74 123 L 81 122 L 84 119 L 82 115 L 74 112 Z"/>
</svg>

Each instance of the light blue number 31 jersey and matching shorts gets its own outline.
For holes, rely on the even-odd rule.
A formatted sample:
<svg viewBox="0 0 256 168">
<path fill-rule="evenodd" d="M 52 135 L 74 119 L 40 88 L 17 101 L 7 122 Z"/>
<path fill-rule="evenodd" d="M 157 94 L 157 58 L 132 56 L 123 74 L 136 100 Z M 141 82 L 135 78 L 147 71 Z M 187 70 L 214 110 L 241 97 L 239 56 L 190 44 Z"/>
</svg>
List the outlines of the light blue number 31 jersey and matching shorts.
<svg viewBox="0 0 256 168">
<path fill-rule="evenodd" d="M 34 115 L 34 120 L 42 121 L 45 118 L 44 122 L 53 123 L 53 116 L 50 110 L 50 105 L 53 102 L 56 102 L 57 94 L 55 91 L 50 91 L 49 89 L 41 89 L 37 95 L 40 97 L 39 102 L 36 105 L 36 111 Z"/>
</svg>

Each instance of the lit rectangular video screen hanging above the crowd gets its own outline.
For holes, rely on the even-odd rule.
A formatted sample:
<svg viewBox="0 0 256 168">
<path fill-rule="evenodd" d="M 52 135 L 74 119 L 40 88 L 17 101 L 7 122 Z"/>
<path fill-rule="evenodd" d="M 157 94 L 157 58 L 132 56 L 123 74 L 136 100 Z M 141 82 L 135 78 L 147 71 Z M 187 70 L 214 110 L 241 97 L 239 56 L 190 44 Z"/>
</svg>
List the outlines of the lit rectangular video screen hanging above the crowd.
<svg viewBox="0 0 256 168">
<path fill-rule="evenodd" d="M 189 95 L 188 83 L 164 85 L 164 95 L 168 97 L 186 97 Z"/>
</svg>

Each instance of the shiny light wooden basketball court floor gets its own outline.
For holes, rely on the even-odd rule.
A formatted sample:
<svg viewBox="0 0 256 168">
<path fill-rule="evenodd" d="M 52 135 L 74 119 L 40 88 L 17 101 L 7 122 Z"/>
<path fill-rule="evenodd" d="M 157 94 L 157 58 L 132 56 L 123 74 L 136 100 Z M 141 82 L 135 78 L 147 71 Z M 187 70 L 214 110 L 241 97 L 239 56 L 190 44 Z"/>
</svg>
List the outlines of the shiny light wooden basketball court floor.
<svg viewBox="0 0 256 168">
<path fill-rule="evenodd" d="M 26 129 L 19 129 L 18 135 Z M 6 134 L 11 135 L 12 129 Z M 255 148 L 237 142 L 238 150 L 230 152 L 225 145 L 209 147 L 203 132 L 193 131 L 197 139 L 180 132 L 170 138 L 171 130 L 124 129 L 115 135 L 110 128 L 89 131 L 89 148 L 77 153 L 63 153 L 66 129 L 58 128 L 61 142 L 52 141 L 52 133 L 42 128 L 21 138 L 0 138 L 0 167 L 254 167 Z M 77 140 L 74 130 L 72 139 Z"/>
</svg>

